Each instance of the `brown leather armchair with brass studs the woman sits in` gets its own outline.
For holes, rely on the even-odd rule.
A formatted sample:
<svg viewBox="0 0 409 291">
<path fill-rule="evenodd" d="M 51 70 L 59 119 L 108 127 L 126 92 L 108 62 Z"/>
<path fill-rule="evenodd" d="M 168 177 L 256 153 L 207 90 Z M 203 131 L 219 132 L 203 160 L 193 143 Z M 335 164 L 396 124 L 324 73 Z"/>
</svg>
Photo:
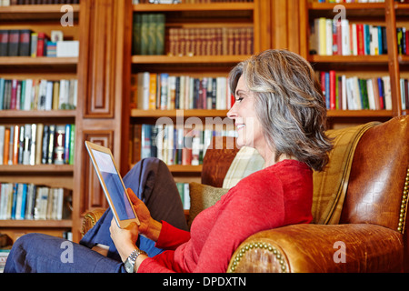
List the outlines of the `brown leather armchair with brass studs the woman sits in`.
<svg viewBox="0 0 409 291">
<path fill-rule="evenodd" d="M 367 129 L 340 186 L 345 195 L 339 222 L 284 226 L 250 236 L 227 271 L 408 272 L 408 136 L 407 116 Z M 238 150 L 217 148 L 206 152 L 202 183 L 221 187 Z M 85 218 L 86 232 L 98 213 Z"/>
</svg>

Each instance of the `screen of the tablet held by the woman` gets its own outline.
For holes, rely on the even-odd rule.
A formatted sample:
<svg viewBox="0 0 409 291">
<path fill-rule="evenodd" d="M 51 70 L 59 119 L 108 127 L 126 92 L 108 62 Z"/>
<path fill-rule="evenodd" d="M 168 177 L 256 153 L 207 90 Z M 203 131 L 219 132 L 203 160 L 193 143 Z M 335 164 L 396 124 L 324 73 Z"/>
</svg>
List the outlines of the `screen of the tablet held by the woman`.
<svg viewBox="0 0 409 291">
<path fill-rule="evenodd" d="M 95 157 L 95 162 L 99 167 L 106 189 L 111 196 L 112 203 L 115 206 L 119 220 L 127 220 L 135 218 L 132 205 L 126 196 L 126 190 L 122 184 L 121 178 L 116 172 L 112 157 L 103 152 L 92 149 Z"/>
</svg>

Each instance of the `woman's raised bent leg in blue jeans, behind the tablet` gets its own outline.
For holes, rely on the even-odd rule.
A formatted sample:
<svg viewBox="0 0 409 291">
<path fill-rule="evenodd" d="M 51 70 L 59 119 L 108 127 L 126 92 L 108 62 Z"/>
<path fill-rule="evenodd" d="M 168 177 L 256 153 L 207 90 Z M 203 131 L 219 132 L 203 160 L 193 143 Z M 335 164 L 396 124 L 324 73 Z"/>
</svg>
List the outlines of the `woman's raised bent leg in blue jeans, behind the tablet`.
<svg viewBox="0 0 409 291">
<path fill-rule="evenodd" d="M 165 163 L 157 158 L 146 158 L 137 163 L 124 177 L 125 187 L 131 188 L 144 201 L 151 216 L 158 221 L 187 230 L 185 213 L 175 180 Z M 92 247 L 96 244 L 109 246 L 108 256 L 118 259 L 115 245 L 110 237 L 109 227 L 113 214 L 110 209 L 85 234 L 80 244 Z M 139 236 L 137 246 L 148 256 L 155 256 L 163 250 L 155 247 L 155 242 Z"/>
</svg>

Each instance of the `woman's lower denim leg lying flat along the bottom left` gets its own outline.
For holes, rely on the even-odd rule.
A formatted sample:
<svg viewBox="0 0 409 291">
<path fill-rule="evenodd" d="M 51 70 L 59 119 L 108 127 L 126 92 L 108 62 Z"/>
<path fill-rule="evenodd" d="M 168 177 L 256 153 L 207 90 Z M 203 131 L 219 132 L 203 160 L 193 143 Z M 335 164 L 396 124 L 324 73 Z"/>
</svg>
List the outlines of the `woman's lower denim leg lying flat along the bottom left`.
<svg viewBox="0 0 409 291">
<path fill-rule="evenodd" d="M 5 273 L 125 273 L 121 261 L 60 237 L 28 234 L 15 241 Z"/>
</svg>

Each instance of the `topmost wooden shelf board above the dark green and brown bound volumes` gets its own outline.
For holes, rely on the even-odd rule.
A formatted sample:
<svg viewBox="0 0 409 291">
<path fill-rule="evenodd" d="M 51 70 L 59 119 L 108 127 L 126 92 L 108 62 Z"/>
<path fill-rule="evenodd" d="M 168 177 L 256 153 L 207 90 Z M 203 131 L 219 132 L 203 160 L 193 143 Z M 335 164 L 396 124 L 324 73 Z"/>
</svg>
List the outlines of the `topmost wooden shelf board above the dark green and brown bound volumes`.
<svg viewBox="0 0 409 291">
<path fill-rule="evenodd" d="M 175 12 L 175 11 L 239 11 L 253 10 L 254 3 L 212 3 L 212 4 L 171 4 L 171 5 L 152 5 L 138 4 L 133 5 L 135 12 Z"/>
</svg>

